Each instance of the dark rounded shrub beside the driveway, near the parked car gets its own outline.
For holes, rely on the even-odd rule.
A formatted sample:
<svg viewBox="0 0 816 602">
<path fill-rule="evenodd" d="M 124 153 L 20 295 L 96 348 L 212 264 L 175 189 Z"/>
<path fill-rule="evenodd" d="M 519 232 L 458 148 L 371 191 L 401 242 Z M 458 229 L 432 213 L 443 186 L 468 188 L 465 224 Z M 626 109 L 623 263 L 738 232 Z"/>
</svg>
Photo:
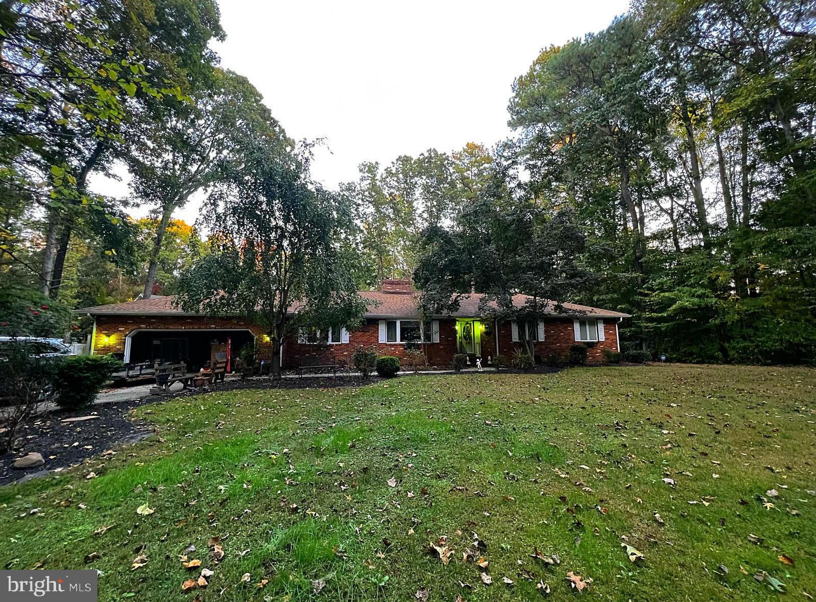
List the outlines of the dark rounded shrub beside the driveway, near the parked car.
<svg viewBox="0 0 816 602">
<path fill-rule="evenodd" d="M 91 404 L 111 372 L 121 367 L 111 355 L 69 355 L 56 367 L 56 404 L 65 409 Z"/>
</svg>

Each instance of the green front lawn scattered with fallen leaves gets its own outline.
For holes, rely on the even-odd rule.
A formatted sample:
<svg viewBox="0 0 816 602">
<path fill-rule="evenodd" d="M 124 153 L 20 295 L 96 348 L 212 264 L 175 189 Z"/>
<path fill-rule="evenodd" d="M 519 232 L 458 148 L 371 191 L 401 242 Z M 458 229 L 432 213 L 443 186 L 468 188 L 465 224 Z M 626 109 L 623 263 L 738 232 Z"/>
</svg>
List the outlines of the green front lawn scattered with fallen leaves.
<svg viewBox="0 0 816 602">
<path fill-rule="evenodd" d="M 407 376 L 139 413 L 157 437 L 0 488 L 3 568 L 100 569 L 100 600 L 559 600 L 570 571 L 592 599 L 816 596 L 813 369 Z"/>
</svg>

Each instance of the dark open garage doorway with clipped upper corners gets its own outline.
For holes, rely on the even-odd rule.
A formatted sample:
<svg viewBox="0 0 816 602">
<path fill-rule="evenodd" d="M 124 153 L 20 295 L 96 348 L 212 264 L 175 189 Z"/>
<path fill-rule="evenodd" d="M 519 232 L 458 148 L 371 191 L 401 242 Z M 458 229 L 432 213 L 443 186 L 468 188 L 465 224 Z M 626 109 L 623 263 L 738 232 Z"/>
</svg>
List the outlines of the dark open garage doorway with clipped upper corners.
<svg viewBox="0 0 816 602">
<path fill-rule="evenodd" d="M 254 344 L 255 335 L 248 330 L 136 330 L 126 337 L 125 362 L 184 362 L 197 372 L 215 354 L 224 359 L 229 350 L 234 370 L 238 351 Z"/>
</svg>

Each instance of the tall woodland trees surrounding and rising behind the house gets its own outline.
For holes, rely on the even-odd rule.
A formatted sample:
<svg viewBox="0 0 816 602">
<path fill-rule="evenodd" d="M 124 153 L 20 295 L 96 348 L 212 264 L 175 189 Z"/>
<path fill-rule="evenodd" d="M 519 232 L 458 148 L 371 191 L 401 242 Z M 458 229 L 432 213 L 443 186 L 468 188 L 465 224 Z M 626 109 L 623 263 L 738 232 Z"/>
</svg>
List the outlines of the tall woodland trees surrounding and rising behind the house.
<svg viewBox="0 0 816 602">
<path fill-rule="evenodd" d="M 246 244 L 225 207 L 259 239 L 264 220 L 286 230 L 294 258 L 291 220 L 330 203 L 318 242 L 342 261 L 293 264 L 342 265 L 343 290 L 527 292 L 632 314 L 623 349 L 654 358 L 814 361 L 816 2 L 635 0 L 530 57 L 511 140 L 362 163 L 339 190 L 220 68 L 223 37 L 214 0 L 0 2 L 3 334 L 81 336 L 70 309 L 140 293 L 195 301 Z M 89 190 L 122 164 L 128 198 Z M 174 221 L 202 190 L 202 221 Z"/>
</svg>

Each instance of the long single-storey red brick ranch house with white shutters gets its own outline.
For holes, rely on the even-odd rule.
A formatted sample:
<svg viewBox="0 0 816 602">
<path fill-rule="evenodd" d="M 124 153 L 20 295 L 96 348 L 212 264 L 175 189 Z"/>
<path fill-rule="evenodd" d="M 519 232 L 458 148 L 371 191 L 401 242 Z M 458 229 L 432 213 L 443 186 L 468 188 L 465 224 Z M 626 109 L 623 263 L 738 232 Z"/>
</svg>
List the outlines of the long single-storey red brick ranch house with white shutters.
<svg viewBox="0 0 816 602">
<path fill-rule="evenodd" d="M 406 342 L 419 341 L 428 363 L 448 367 L 456 353 L 471 362 L 481 356 L 488 363 L 498 355 L 509 357 L 519 344 L 519 324 L 499 322 L 479 315 L 480 293 L 463 297 L 454 314 L 433 316 L 420 325 L 419 295 L 409 280 L 385 280 L 382 290 L 361 291 L 373 301 L 361 328 L 302 329 L 282 348 L 282 366 L 334 361 L 350 364 L 358 346 L 376 346 L 381 355 L 406 358 Z M 521 305 L 524 295 L 514 301 Z M 242 346 L 255 342 L 256 357 L 268 361 L 272 347 L 264 328 L 241 318 L 211 318 L 188 314 L 173 307 L 172 297 L 151 297 L 77 310 L 94 320 L 91 353 L 113 353 L 126 363 L 184 360 L 197 369 L 212 357 L 214 349 L 236 357 Z M 603 350 L 619 350 L 618 324 L 628 314 L 586 305 L 564 304 L 565 313 L 549 307 L 539 323 L 527 324 L 535 352 L 546 359 L 555 353 L 565 359 L 570 346 L 588 346 L 590 362 L 601 362 Z M 521 327 L 523 328 L 523 326 Z"/>
</svg>

